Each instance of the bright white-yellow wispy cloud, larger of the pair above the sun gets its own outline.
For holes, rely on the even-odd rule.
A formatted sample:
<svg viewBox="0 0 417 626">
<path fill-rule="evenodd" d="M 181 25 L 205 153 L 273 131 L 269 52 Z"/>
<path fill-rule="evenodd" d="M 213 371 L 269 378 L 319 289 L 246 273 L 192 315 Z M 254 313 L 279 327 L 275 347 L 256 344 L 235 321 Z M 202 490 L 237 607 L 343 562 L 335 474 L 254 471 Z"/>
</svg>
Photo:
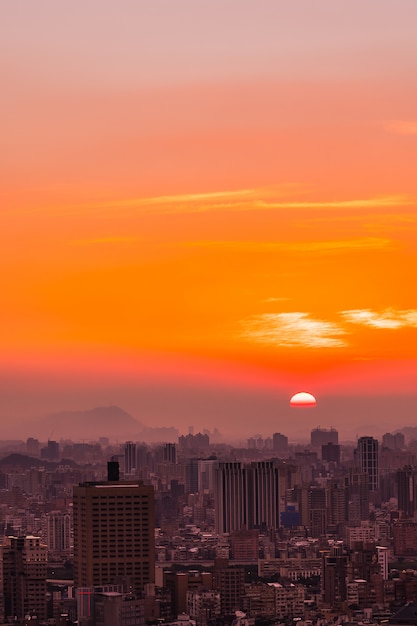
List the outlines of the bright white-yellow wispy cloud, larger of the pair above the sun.
<svg viewBox="0 0 417 626">
<path fill-rule="evenodd" d="M 344 348 L 346 331 L 339 325 L 310 317 L 309 313 L 265 313 L 242 322 L 241 336 L 277 347 Z"/>
</svg>

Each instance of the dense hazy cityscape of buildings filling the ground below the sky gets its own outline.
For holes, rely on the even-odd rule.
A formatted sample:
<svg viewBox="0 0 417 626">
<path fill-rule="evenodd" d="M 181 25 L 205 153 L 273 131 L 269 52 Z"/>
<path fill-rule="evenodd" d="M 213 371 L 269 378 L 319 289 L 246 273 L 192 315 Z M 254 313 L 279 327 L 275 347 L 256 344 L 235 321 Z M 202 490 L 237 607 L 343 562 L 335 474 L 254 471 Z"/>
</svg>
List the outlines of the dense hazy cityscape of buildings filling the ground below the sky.
<svg viewBox="0 0 417 626">
<path fill-rule="evenodd" d="M 400 431 L 0 446 L 2 624 L 415 623 L 417 440 Z"/>
</svg>

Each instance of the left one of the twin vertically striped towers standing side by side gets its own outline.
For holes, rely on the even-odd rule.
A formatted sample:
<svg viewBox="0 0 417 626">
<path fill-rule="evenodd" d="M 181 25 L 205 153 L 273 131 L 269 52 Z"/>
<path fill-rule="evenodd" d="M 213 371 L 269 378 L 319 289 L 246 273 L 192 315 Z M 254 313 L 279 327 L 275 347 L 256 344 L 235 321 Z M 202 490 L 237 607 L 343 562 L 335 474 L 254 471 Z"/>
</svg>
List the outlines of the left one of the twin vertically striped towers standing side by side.
<svg viewBox="0 0 417 626">
<path fill-rule="evenodd" d="M 248 528 L 248 470 L 242 463 L 219 463 L 214 470 L 215 527 L 218 533 Z"/>
</svg>

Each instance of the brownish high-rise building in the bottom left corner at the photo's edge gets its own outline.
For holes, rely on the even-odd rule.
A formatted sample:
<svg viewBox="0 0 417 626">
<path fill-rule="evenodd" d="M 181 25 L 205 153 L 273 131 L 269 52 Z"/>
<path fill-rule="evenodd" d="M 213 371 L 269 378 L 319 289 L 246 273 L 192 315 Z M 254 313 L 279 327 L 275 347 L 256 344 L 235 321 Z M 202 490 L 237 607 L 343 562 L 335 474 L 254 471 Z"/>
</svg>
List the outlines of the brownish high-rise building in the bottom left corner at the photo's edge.
<svg viewBox="0 0 417 626">
<path fill-rule="evenodd" d="M 47 547 L 39 537 L 11 537 L 3 548 L 5 615 L 23 620 L 47 618 L 46 575 Z"/>
</svg>

